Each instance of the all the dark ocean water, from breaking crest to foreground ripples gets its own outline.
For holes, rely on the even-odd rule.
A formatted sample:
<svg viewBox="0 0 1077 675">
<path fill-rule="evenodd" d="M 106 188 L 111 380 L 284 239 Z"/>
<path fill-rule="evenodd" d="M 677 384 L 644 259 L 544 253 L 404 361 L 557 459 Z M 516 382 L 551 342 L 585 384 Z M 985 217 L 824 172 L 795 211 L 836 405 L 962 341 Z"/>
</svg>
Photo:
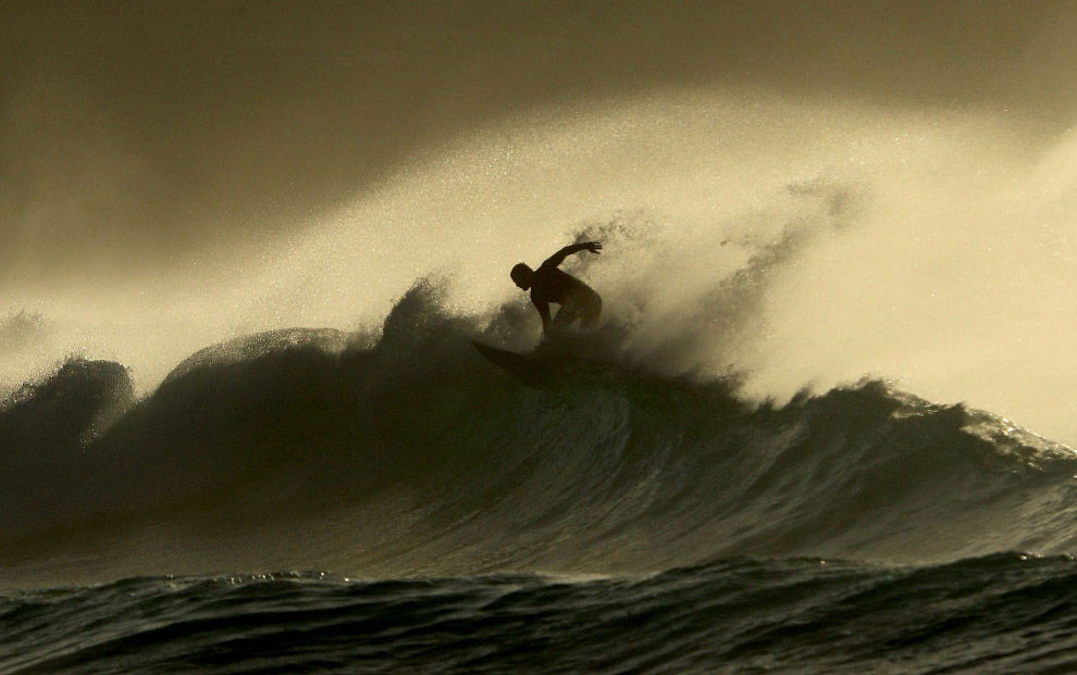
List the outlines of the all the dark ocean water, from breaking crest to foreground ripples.
<svg viewBox="0 0 1077 675">
<path fill-rule="evenodd" d="M 381 332 L 73 358 L 0 412 L 3 673 L 1077 668 L 1077 455 L 866 379 L 747 402 L 607 326 L 541 388 Z M 556 364 L 556 365 L 554 365 Z"/>
</svg>

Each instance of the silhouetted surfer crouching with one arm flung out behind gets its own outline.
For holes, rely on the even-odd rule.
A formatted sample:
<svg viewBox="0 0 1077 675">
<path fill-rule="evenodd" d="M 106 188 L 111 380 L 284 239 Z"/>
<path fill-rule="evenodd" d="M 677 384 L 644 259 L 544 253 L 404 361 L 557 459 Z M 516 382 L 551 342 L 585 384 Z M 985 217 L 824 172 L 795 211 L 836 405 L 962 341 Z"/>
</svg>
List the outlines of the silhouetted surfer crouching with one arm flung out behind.
<svg viewBox="0 0 1077 675">
<path fill-rule="evenodd" d="M 542 316 L 543 333 L 548 333 L 552 324 L 568 326 L 579 322 L 581 328 L 590 328 L 598 321 L 598 315 L 602 314 L 602 297 L 580 279 L 557 267 L 572 253 L 580 251 L 598 253 L 601 250 L 602 245 L 597 241 L 572 243 L 547 258 L 537 270 L 532 270 L 524 263 L 512 267 L 509 276 L 516 285 L 523 290 L 531 289 L 531 303 Z M 549 315 L 550 302 L 560 305 L 557 316 L 553 320 Z"/>
</svg>

